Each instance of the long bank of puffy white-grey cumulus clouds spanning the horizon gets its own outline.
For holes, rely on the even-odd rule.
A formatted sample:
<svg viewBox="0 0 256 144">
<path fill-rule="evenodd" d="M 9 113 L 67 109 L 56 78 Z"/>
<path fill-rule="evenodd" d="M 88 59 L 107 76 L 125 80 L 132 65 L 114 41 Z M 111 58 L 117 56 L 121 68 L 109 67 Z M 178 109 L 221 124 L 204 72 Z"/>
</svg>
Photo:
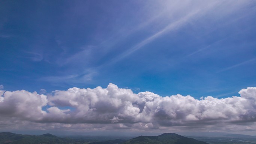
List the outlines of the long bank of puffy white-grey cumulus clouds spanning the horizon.
<svg viewBox="0 0 256 144">
<path fill-rule="evenodd" d="M 25 90 L 0 91 L 0 127 L 254 130 L 256 88 L 238 93 L 240 96 L 207 96 L 199 100 L 180 94 L 134 94 L 112 83 L 107 88 L 70 88 L 48 95 Z"/>
</svg>

